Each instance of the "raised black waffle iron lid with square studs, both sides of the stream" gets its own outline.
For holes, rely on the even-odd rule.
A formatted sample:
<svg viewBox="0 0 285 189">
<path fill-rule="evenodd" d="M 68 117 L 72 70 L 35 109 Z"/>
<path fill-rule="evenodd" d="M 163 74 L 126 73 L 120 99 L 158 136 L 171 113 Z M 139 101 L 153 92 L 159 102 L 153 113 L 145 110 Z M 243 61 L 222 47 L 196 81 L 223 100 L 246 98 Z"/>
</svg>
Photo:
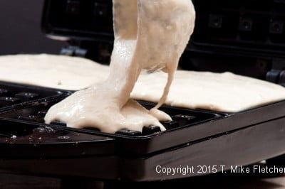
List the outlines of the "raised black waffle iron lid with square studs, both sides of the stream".
<svg viewBox="0 0 285 189">
<path fill-rule="evenodd" d="M 191 41 L 195 45 L 215 51 L 252 50 L 259 55 L 284 53 L 284 1 L 194 0 L 193 3 L 197 21 Z M 71 41 L 112 42 L 112 1 L 46 0 L 42 28 L 48 35 Z"/>
</svg>

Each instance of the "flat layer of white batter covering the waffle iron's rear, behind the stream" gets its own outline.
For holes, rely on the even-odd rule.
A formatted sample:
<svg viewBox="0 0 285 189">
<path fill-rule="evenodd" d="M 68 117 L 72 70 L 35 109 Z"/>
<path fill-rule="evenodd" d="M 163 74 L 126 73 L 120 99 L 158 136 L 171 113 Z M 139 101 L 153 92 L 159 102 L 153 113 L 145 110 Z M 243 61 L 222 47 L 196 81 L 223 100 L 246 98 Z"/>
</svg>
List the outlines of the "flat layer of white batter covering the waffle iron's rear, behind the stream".
<svg viewBox="0 0 285 189">
<path fill-rule="evenodd" d="M 61 55 L 0 56 L 0 80 L 81 90 L 105 81 L 110 68 L 84 58 Z M 43 78 L 43 79 L 42 79 Z M 131 93 L 133 99 L 158 102 L 167 74 L 143 72 Z M 61 85 L 58 85 L 61 81 Z M 95 85 L 93 85 L 95 86 Z M 285 88 L 232 73 L 177 70 L 166 104 L 174 107 L 240 112 L 285 99 Z"/>
</svg>

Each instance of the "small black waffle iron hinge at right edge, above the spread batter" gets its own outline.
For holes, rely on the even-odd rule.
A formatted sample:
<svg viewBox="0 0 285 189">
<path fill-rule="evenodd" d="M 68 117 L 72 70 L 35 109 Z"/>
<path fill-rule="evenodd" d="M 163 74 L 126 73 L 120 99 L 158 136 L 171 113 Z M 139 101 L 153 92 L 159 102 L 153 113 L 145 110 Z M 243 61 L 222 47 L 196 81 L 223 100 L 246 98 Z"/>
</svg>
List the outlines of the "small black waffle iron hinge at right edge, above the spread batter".
<svg viewBox="0 0 285 189">
<path fill-rule="evenodd" d="M 272 60 L 272 67 L 266 74 L 266 80 L 285 87 L 285 60 L 274 59 Z"/>
</svg>

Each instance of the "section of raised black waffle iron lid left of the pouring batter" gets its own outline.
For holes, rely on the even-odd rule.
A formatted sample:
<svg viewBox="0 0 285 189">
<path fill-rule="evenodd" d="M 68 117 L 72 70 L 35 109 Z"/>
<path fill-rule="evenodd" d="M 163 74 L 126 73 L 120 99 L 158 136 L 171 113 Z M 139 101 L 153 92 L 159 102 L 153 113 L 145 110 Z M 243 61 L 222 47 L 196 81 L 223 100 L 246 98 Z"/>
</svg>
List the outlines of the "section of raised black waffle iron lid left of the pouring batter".
<svg viewBox="0 0 285 189">
<path fill-rule="evenodd" d="M 43 31 L 72 40 L 113 39 L 113 13 L 110 0 L 45 1 Z"/>
</svg>

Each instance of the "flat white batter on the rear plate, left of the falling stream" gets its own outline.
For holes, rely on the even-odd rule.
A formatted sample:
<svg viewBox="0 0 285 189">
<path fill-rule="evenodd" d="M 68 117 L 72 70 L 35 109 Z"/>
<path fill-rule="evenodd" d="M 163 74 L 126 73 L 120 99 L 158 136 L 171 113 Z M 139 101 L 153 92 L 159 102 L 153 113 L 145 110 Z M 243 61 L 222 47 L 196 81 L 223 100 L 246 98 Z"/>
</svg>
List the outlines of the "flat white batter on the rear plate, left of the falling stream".
<svg viewBox="0 0 285 189">
<path fill-rule="evenodd" d="M 63 55 L 0 56 L 0 80 L 28 85 L 81 90 L 103 82 L 110 68 L 86 58 Z"/>
</svg>

